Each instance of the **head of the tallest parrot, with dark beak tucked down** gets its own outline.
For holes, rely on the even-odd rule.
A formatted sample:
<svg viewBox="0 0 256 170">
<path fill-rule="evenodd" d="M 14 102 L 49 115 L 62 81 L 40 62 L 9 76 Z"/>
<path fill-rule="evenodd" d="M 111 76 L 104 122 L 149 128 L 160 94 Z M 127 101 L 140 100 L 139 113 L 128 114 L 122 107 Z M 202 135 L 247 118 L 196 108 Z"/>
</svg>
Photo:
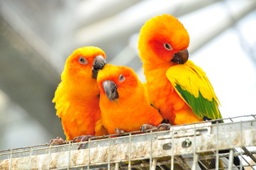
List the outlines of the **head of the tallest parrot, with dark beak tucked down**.
<svg viewBox="0 0 256 170">
<path fill-rule="evenodd" d="M 140 30 L 138 50 L 143 62 L 184 64 L 189 58 L 187 47 L 189 34 L 174 16 L 151 18 Z"/>
</svg>

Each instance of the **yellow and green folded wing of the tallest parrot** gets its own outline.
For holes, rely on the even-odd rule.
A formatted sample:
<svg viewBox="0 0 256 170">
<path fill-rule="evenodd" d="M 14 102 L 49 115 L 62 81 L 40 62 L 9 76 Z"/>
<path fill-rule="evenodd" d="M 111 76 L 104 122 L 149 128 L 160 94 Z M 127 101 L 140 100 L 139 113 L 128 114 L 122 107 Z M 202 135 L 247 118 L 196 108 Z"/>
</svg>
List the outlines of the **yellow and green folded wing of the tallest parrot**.
<svg viewBox="0 0 256 170">
<path fill-rule="evenodd" d="M 170 67 L 167 79 L 179 96 L 199 118 L 222 118 L 218 110 L 219 101 L 205 72 L 193 62 Z"/>
</svg>

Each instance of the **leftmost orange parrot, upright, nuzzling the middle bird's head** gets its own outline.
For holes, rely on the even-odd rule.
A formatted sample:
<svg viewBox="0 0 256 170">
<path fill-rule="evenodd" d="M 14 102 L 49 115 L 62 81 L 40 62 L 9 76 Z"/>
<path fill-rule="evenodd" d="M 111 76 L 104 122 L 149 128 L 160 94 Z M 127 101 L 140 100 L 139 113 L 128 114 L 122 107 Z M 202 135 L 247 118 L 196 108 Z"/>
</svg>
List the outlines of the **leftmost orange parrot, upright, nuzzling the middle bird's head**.
<svg viewBox="0 0 256 170">
<path fill-rule="evenodd" d="M 99 47 L 80 47 L 67 58 L 61 74 L 62 81 L 52 100 L 67 140 L 84 135 L 106 135 L 101 132 L 99 87 L 96 82 L 99 69 L 106 64 L 105 58 L 104 51 Z M 61 142 L 64 142 L 61 137 L 50 141 Z"/>
</svg>

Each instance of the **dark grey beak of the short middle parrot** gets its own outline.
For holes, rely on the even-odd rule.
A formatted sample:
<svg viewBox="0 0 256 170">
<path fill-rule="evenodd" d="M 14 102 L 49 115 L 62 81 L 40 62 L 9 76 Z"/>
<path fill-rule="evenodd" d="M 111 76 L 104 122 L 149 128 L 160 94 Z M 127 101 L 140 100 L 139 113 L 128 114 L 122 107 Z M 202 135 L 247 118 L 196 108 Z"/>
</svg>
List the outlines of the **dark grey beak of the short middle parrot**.
<svg viewBox="0 0 256 170">
<path fill-rule="evenodd" d="M 113 101 L 119 97 L 118 91 L 117 91 L 117 86 L 113 81 L 106 80 L 102 83 L 102 86 L 104 88 L 106 96 L 108 97 L 108 99 L 110 101 Z"/>
</svg>

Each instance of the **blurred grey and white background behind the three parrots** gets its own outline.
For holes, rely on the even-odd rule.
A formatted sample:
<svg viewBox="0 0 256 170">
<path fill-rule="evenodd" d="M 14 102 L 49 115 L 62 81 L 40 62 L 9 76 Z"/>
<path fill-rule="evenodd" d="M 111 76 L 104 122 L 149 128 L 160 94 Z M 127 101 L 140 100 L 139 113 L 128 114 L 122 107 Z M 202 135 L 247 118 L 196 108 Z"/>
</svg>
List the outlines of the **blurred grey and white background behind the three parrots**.
<svg viewBox="0 0 256 170">
<path fill-rule="evenodd" d="M 0 0 L 0 149 L 65 137 L 52 98 L 67 57 L 94 45 L 132 67 L 141 26 L 169 13 L 191 36 L 223 118 L 256 113 L 256 0 Z"/>
</svg>

